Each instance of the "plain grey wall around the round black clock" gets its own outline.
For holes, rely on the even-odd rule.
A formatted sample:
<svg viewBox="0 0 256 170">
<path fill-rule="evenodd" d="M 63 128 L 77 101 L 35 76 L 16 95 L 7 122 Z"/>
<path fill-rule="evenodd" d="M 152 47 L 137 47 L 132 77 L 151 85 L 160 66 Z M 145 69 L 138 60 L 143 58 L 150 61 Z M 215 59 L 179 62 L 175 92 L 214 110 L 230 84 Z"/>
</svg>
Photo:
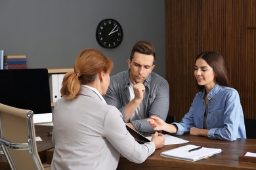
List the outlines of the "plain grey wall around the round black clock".
<svg viewBox="0 0 256 170">
<path fill-rule="evenodd" d="M 154 71 L 165 77 L 164 0 L 1 0 L 0 49 L 26 55 L 28 68 L 73 67 L 83 48 L 97 48 L 114 60 L 112 75 L 127 69 L 135 42 L 156 47 Z M 113 18 L 122 25 L 117 48 L 96 42 L 98 23 Z"/>
</svg>

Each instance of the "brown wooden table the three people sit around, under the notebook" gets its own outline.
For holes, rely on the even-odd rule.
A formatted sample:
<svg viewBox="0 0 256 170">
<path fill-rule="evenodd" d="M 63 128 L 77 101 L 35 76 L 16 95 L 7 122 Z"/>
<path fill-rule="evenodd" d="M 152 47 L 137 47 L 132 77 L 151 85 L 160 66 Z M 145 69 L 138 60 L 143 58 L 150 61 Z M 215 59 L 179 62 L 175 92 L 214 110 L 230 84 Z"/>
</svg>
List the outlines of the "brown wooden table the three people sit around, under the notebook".
<svg viewBox="0 0 256 170">
<path fill-rule="evenodd" d="M 132 163 L 121 156 L 117 169 L 256 169 L 256 163 L 238 161 L 239 156 L 244 155 L 246 150 L 256 150 L 256 139 L 237 139 L 234 142 L 227 142 L 191 135 L 178 137 L 189 141 L 189 143 L 163 146 L 163 148 L 156 150 L 154 154 L 148 157 L 144 163 L 140 164 Z M 195 162 L 163 158 L 160 156 L 160 152 L 186 144 L 221 148 L 223 152 L 211 158 Z"/>
</svg>

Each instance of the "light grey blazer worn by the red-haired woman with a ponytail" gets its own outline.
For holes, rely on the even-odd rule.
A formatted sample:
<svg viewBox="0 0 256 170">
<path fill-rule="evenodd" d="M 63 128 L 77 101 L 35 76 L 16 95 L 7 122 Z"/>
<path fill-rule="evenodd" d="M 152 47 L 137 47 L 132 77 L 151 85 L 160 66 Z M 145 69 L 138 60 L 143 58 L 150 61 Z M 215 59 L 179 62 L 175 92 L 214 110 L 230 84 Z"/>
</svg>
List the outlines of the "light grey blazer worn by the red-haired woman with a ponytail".
<svg viewBox="0 0 256 170">
<path fill-rule="evenodd" d="M 137 143 L 119 110 L 85 86 L 76 99 L 56 102 L 53 119 L 53 170 L 116 169 L 120 154 L 142 163 L 155 150 L 152 142 Z"/>
</svg>

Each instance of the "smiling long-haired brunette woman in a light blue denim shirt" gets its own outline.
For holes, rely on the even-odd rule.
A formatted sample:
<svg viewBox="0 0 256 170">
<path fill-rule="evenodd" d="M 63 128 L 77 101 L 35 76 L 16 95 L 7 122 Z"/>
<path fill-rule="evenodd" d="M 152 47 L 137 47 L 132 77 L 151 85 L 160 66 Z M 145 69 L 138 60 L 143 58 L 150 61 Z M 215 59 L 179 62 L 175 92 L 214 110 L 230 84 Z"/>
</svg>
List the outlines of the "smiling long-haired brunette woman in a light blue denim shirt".
<svg viewBox="0 0 256 170">
<path fill-rule="evenodd" d="M 194 75 L 200 92 L 181 122 L 167 124 L 152 116 L 155 130 L 235 141 L 246 138 L 244 114 L 238 92 L 228 85 L 224 59 L 218 52 L 202 52 L 196 58 Z"/>
</svg>

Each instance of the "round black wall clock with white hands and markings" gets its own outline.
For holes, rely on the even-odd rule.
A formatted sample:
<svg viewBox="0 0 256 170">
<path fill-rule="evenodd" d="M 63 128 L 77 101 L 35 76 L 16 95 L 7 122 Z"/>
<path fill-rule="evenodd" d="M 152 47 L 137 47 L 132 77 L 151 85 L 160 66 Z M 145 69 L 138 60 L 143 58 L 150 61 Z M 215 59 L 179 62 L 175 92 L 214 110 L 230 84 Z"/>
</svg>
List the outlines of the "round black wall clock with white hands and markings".
<svg viewBox="0 0 256 170">
<path fill-rule="evenodd" d="M 121 44 L 123 31 L 113 19 L 102 20 L 96 28 L 96 40 L 104 48 L 115 48 Z"/>
</svg>

